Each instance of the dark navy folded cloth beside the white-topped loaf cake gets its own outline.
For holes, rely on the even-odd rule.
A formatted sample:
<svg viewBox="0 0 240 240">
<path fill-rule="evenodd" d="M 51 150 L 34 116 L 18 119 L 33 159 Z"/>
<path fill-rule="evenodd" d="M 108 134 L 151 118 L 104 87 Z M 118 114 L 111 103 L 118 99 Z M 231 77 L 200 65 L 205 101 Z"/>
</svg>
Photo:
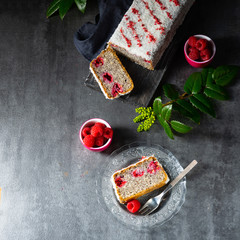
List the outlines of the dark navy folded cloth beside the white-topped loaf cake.
<svg viewBox="0 0 240 240">
<path fill-rule="evenodd" d="M 84 24 L 74 35 L 77 50 L 89 61 L 98 56 L 133 0 L 98 0 L 95 24 Z"/>
</svg>

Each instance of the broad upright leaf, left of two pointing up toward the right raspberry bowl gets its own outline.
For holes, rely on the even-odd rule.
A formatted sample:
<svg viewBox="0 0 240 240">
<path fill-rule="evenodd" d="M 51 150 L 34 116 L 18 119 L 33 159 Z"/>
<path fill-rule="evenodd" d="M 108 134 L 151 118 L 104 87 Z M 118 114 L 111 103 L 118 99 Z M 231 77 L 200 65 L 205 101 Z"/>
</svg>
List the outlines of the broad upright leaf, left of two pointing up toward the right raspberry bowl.
<svg viewBox="0 0 240 240">
<path fill-rule="evenodd" d="M 185 85 L 184 91 L 188 94 L 197 94 L 202 89 L 202 75 L 200 72 L 195 72 L 189 76 Z"/>
</svg>

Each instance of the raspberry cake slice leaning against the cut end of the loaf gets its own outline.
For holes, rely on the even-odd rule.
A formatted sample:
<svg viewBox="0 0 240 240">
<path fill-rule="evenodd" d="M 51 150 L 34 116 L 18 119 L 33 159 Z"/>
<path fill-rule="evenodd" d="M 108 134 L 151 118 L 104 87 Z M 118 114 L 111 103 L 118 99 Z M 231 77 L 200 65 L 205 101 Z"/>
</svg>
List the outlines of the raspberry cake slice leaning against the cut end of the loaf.
<svg viewBox="0 0 240 240">
<path fill-rule="evenodd" d="M 111 47 L 91 61 L 90 70 L 107 99 L 128 94 L 134 87 L 131 77 Z"/>
</svg>

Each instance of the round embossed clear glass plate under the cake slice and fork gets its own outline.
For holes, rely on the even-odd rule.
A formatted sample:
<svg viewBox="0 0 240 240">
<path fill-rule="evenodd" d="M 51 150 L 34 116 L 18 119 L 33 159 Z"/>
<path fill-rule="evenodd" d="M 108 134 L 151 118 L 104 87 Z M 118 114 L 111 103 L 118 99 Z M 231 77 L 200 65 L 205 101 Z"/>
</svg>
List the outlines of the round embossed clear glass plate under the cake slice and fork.
<svg viewBox="0 0 240 240">
<path fill-rule="evenodd" d="M 111 176 L 112 174 L 127 167 L 128 165 L 137 162 L 142 156 L 154 155 L 163 165 L 168 173 L 170 180 L 173 180 L 183 171 L 182 166 L 171 152 L 162 148 L 159 145 L 149 145 L 145 143 L 131 143 L 114 151 L 107 160 L 107 165 L 104 166 L 99 173 L 97 181 L 97 189 L 99 189 L 100 201 L 104 202 L 108 210 L 120 221 L 135 230 L 144 230 L 156 225 L 162 225 L 170 220 L 178 211 L 185 201 L 186 194 L 186 178 L 181 180 L 166 196 L 166 199 L 160 207 L 149 216 L 141 216 L 128 212 L 124 204 L 120 204 L 115 196 Z M 144 195 L 138 200 L 144 204 L 149 198 L 159 194 L 163 188 Z"/>
</svg>

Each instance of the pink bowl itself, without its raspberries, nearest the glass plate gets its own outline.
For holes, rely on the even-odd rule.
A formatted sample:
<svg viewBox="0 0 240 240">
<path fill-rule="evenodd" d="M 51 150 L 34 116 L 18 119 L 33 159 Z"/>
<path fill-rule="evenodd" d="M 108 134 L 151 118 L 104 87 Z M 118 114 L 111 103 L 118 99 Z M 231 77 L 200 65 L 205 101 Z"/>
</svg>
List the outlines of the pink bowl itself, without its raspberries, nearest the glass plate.
<svg viewBox="0 0 240 240">
<path fill-rule="evenodd" d="M 102 151 L 106 150 L 110 146 L 110 144 L 112 142 L 112 138 L 109 138 L 107 140 L 107 142 L 103 146 L 101 146 L 101 147 L 88 147 L 83 142 L 83 136 L 82 136 L 83 129 L 85 127 L 91 127 L 91 126 L 93 126 L 97 122 L 103 123 L 103 124 L 105 124 L 106 127 L 111 128 L 110 124 L 108 122 L 106 122 L 105 120 L 101 119 L 101 118 L 89 119 L 85 123 L 83 123 L 83 125 L 80 128 L 80 130 L 79 130 L 79 139 L 80 139 L 81 143 L 83 144 L 83 146 L 85 148 L 87 148 L 88 150 L 91 150 L 91 151 L 94 151 L 94 152 L 102 152 Z"/>
</svg>

